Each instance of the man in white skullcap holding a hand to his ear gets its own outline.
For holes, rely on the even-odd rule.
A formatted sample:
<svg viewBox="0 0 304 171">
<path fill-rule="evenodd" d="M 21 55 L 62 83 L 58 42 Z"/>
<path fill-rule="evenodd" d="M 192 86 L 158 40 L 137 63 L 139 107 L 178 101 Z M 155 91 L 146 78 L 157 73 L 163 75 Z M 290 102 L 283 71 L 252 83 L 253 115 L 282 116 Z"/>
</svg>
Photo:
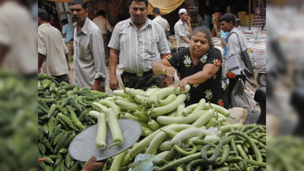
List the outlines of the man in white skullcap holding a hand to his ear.
<svg viewBox="0 0 304 171">
<path fill-rule="evenodd" d="M 179 20 L 174 25 L 174 33 L 177 40 L 178 50 L 187 48 L 190 46 L 189 37 L 192 34 L 192 28 L 190 24 L 190 16 L 186 9 L 181 8 L 178 11 Z"/>
</svg>

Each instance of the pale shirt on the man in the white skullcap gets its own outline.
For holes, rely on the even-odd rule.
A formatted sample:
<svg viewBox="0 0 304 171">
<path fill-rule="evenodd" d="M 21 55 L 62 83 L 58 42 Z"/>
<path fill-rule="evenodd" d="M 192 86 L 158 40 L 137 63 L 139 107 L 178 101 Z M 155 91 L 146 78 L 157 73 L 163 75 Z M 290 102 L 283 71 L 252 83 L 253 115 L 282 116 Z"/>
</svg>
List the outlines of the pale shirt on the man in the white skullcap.
<svg viewBox="0 0 304 171">
<path fill-rule="evenodd" d="M 190 46 L 190 44 L 181 39 L 182 36 L 189 40 L 189 37 L 191 36 L 188 24 L 186 22 L 182 22 L 181 19 L 179 19 L 178 22 L 176 22 L 174 25 L 174 33 L 177 41 L 177 47 Z"/>
</svg>

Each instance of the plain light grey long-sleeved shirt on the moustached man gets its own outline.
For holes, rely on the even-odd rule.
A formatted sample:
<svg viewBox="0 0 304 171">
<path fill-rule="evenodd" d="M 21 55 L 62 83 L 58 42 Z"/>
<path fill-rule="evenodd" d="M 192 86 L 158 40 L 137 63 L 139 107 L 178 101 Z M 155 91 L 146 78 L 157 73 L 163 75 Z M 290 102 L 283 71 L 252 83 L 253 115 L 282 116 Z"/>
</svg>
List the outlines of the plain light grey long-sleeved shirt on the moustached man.
<svg viewBox="0 0 304 171">
<path fill-rule="evenodd" d="M 105 86 L 107 70 L 102 33 L 92 20 L 86 18 L 81 31 L 74 31 L 74 79 L 73 84 L 92 89 L 95 79 Z"/>
</svg>

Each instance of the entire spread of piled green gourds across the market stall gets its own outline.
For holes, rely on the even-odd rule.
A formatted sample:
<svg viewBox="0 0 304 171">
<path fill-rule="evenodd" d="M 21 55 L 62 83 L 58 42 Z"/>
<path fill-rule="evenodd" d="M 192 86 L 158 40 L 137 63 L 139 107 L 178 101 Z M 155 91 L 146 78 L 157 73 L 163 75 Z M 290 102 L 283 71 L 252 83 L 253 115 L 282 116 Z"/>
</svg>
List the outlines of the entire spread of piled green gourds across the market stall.
<svg viewBox="0 0 304 171">
<path fill-rule="evenodd" d="M 186 92 L 189 90 L 190 86 L 186 85 Z M 39 74 L 38 157 L 47 159 L 39 163 L 39 169 L 83 168 L 84 162 L 71 157 L 69 145 L 83 130 L 96 123 L 99 126 L 101 113 L 108 116 L 109 111 L 118 120 L 137 121 L 142 133 L 128 150 L 108 158 L 105 169 L 266 168 L 265 126 L 230 124 L 227 118 L 231 117 L 231 113 L 222 106 L 201 99 L 199 103 L 185 107 L 185 99 L 186 95 L 173 87 L 151 87 L 147 91 L 126 87 L 115 90 L 109 96 L 65 82 L 59 83 L 54 77 Z M 105 125 L 105 119 L 100 125 Z M 111 134 L 114 136 L 112 131 Z M 123 144 L 125 138 L 121 138 L 116 146 Z M 109 145 L 100 148 L 100 152 L 107 150 Z"/>
</svg>

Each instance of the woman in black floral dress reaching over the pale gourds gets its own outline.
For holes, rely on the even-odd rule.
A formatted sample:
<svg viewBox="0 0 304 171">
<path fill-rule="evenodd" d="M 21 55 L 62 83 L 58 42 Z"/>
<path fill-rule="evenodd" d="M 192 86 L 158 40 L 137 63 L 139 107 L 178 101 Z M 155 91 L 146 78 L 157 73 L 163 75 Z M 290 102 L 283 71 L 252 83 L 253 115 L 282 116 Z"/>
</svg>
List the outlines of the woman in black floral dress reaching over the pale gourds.
<svg viewBox="0 0 304 171">
<path fill-rule="evenodd" d="M 181 86 L 185 90 L 186 84 L 191 85 L 186 93 L 186 106 L 205 98 L 207 102 L 228 108 L 221 53 L 213 46 L 211 33 L 206 26 L 193 30 L 189 48 L 169 54 L 152 66 L 154 73 L 167 76 L 173 76 L 175 69 L 180 81 L 174 84 L 174 88 Z"/>
</svg>

